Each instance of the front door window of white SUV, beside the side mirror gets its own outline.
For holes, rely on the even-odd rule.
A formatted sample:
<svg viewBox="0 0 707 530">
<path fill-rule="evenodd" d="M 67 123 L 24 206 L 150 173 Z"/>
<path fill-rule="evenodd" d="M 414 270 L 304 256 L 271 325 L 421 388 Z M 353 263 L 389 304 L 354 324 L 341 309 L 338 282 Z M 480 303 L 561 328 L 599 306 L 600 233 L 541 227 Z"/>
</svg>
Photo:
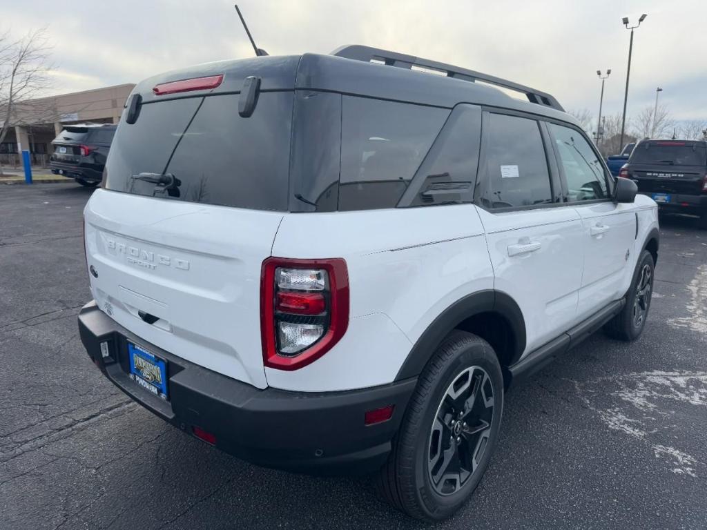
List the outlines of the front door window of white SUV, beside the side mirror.
<svg viewBox="0 0 707 530">
<path fill-rule="evenodd" d="M 548 124 L 548 127 L 567 180 L 568 200 L 608 199 L 604 166 L 584 136 L 569 127 L 556 124 Z"/>
</svg>

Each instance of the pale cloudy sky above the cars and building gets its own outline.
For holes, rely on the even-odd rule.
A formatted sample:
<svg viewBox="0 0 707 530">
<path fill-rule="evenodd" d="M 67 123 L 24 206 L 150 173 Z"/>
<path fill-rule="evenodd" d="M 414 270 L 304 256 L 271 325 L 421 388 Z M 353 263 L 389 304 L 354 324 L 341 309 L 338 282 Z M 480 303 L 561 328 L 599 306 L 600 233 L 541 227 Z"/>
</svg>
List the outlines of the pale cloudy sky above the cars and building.
<svg viewBox="0 0 707 530">
<path fill-rule="evenodd" d="M 604 109 L 621 110 L 629 31 L 636 30 L 629 114 L 655 102 L 707 119 L 705 0 L 240 0 L 269 54 L 328 53 L 343 44 L 395 49 L 546 90 L 596 116 L 597 69 L 612 69 Z M 4 2 L 0 30 L 47 25 L 52 93 L 136 83 L 160 71 L 252 55 L 233 0 Z"/>
</svg>

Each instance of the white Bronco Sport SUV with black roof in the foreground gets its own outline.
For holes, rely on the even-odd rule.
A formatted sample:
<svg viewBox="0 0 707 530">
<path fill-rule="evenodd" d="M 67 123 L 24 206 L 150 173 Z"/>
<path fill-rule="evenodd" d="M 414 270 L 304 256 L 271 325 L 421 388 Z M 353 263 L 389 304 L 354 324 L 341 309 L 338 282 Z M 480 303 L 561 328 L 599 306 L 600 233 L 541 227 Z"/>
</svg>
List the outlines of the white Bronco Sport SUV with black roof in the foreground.
<svg viewBox="0 0 707 530">
<path fill-rule="evenodd" d="M 84 215 L 106 377 L 422 519 L 476 488 L 510 382 L 641 334 L 658 255 L 655 203 L 551 95 L 361 46 L 140 83 Z"/>
</svg>

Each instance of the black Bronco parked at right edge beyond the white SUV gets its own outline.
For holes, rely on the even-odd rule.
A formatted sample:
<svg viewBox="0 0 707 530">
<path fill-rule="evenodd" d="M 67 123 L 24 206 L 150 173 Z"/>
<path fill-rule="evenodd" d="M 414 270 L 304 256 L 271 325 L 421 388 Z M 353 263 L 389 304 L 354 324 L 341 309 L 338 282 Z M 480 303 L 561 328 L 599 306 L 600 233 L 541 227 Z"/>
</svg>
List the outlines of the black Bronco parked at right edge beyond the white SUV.
<svg viewBox="0 0 707 530">
<path fill-rule="evenodd" d="M 619 176 L 633 179 L 662 211 L 698 215 L 707 229 L 707 141 L 640 141 Z"/>
</svg>

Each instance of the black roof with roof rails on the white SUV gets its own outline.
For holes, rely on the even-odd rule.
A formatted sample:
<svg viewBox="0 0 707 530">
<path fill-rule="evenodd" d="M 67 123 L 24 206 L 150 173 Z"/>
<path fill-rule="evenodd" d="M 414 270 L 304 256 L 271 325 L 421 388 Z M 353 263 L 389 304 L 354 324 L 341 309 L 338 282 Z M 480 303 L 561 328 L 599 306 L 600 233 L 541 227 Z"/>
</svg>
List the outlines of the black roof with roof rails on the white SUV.
<svg viewBox="0 0 707 530">
<path fill-rule="evenodd" d="M 366 50 L 366 52 L 369 50 L 385 52 L 385 50 L 368 47 L 346 48 L 357 49 L 359 54 L 363 53 L 361 52 L 362 49 Z M 340 53 L 341 50 L 339 49 L 335 53 Z M 397 57 L 416 59 L 414 64 L 421 64 L 421 61 L 426 61 L 425 59 L 395 54 L 395 52 L 385 53 Z M 238 93 L 243 87 L 245 78 L 258 76 L 261 78 L 261 90 L 329 90 L 344 94 L 445 108 L 452 108 L 458 103 L 464 102 L 530 112 L 578 125 L 578 122 L 571 115 L 561 110 L 562 107 L 556 99 L 547 93 L 479 72 L 435 63 L 434 61 L 426 61 L 426 63 L 434 64 L 438 67 L 429 69 L 443 70 L 443 72 L 447 72 L 446 75 L 415 71 L 407 67 L 396 68 L 389 64 L 378 64 L 361 58 L 350 59 L 348 57 L 338 57 L 337 55 L 305 53 L 294 56 L 252 57 L 199 64 L 187 69 L 162 73 L 139 83 L 134 88 L 133 93 L 141 94 L 143 102 L 193 97 L 194 95 L 204 95 L 205 93 Z M 449 75 L 448 69 L 452 68 L 455 72 L 460 72 L 460 74 L 458 76 Z M 224 76 L 223 82 L 220 86 L 211 90 L 160 96 L 156 96 L 152 92 L 152 88 L 160 83 L 214 76 L 221 73 Z M 503 91 L 486 84 L 469 82 L 475 80 L 524 92 L 529 101 L 511 98 Z M 497 82 L 494 83 L 494 81 Z M 530 98 L 533 96 L 537 97 L 537 102 L 530 102 Z M 543 103 L 541 98 L 544 98 L 547 102 Z"/>
</svg>

